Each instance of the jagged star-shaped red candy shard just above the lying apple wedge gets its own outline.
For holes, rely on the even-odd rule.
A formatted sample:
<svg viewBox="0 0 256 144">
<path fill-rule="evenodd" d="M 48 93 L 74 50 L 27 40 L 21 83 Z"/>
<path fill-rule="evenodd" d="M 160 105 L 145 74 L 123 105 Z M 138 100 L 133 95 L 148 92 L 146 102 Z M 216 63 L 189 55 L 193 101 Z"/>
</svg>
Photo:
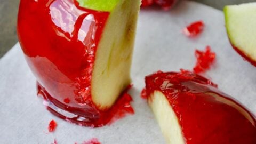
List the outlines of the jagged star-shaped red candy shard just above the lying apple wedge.
<svg viewBox="0 0 256 144">
<path fill-rule="evenodd" d="M 210 46 L 206 46 L 205 51 L 196 50 L 195 55 L 197 61 L 193 70 L 196 74 L 208 70 L 216 57 L 216 54 L 211 52 Z"/>
</svg>

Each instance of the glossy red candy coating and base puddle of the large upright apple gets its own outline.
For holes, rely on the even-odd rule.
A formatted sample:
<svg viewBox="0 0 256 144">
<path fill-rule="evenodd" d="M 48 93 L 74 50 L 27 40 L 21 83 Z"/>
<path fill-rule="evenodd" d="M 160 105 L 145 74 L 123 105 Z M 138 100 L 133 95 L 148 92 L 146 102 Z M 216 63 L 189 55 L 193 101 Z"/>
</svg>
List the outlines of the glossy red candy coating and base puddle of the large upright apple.
<svg viewBox="0 0 256 144">
<path fill-rule="evenodd" d="M 71 0 L 20 2 L 18 37 L 37 77 L 38 95 L 51 113 L 69 122 L 100 127 L 116 115 L 134 113 L 129 94 L 108 110 L 92 102 L 94 55 L 108 17 L 109 12 L 84 9 Z"/>
</svg>

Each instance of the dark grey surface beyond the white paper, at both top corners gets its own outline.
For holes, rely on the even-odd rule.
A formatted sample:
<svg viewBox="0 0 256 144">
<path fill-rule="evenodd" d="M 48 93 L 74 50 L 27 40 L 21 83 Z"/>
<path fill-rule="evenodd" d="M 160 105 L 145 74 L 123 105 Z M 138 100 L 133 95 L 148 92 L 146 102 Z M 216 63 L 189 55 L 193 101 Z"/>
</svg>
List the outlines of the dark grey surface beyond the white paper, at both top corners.
<svg viewBox="0 0 256 144">
<path fill-rule="evenodd" d="M 255 0 L 193 0 L 222 10 L 228 4 L 255 2 Z M 0 58 L 18 42 L 17 13 L 19 0 L 0 0 Z"/>
</svg>

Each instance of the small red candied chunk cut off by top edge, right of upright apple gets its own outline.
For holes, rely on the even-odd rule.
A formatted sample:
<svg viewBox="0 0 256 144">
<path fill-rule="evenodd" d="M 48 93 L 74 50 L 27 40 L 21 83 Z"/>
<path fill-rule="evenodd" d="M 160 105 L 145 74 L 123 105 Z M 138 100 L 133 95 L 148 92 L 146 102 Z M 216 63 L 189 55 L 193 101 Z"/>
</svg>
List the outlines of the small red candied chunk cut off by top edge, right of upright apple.
<svg viewBox="0 0 256 144">
<path fill-rule="evenodd" d="M 178 0 L 142 0 L 142 7 L 147 7 L 153 4 L 161 6 L 163 10 L 171 9 Z"/>
</svg>

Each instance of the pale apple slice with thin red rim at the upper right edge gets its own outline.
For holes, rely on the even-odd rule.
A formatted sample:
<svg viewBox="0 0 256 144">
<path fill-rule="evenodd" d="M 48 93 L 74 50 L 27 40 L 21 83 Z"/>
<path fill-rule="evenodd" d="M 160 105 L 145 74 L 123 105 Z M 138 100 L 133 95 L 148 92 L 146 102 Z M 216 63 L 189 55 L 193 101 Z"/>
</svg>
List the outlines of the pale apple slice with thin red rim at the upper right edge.
<svg viewBox="0 0 256 144">
<path fill-rule="evenodd" d="M 224 8 L 226 28 L 234 49 L 256 66 L 256 3 Z"/>
</svg>

